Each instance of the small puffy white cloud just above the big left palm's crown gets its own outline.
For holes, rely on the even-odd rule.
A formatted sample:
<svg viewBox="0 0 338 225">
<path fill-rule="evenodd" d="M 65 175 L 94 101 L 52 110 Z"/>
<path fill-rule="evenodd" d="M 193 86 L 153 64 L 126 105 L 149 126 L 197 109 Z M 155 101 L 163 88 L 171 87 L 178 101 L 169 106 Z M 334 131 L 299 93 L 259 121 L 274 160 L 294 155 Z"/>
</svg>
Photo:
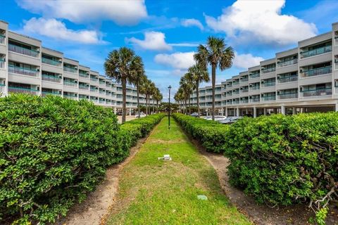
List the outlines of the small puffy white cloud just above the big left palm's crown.
<svg viewBox="0 0 338 225">
<path fill-rule="evenodd" d="M 142 49 L 148 50 L 171 50 L 172 47 L 165 43 L 165 34 L 162 32 L 145 32 L 144 40 L 134 37 L 126 39 L 127 42 L 136 44 Z"/>
</svg>

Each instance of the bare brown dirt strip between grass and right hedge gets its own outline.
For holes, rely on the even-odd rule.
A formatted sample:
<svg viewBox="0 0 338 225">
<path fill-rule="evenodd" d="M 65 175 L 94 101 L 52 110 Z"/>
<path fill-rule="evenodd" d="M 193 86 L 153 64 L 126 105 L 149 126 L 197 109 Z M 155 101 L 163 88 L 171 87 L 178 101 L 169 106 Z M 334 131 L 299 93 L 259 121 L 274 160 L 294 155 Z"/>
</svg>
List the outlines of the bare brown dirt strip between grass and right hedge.
<svg viewBox="0 0 338 225">
<path fill-rule="evenodd" d="M 199 146 L 197 141 L 193 141 Z M 229 160 L 223 155 L 208 153 L 201 146 L 199 150 L 206 160 L 215 168 L 220 185 L 230 199 L 241 212 L 246 214 L 254 224 L 262 225 L 285 225 L 285 224 L 310 224 L 308 221 L 315 214 L 306 205 L 296 205 L 292 207 L 268 207 L 267 205 L 258 205 L 255 200 L 245 195 L 243 191 L 230 186 L 227 176 L 227 165 Z M 338 209 L 333 207 L 327 215 L 327 225 L 338 224 Z"/>
</svg>

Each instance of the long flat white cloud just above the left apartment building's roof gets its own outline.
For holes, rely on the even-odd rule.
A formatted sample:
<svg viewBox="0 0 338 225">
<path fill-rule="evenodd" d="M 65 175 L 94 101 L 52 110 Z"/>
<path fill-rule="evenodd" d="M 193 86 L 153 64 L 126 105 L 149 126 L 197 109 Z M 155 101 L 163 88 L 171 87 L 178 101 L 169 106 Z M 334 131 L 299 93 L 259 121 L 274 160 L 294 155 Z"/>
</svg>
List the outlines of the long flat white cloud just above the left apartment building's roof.
<svg viewBox="0 0 338 225">
<path fill-rule="evenodd" d="M 65 27 L 64 23 L 56 19 L 31 18 L 25 21 L 23 32 L 84 44 L 104 43 L 98 32 L 94 30 L 70 30 Z"/>
</svg>

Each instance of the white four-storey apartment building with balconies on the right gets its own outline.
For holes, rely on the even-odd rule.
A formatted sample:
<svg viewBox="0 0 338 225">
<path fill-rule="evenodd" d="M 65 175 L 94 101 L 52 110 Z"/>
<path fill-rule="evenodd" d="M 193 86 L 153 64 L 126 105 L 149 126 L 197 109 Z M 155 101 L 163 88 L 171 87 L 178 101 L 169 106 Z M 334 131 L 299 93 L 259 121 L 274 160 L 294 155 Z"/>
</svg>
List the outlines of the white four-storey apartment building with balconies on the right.
<svg viewBox="0 0 338 225">
<path fill-rule="evenodd" d="M 211 87 L 199 93 L 201 109 L 210 112 Z M 196 105 L 196 91 L 191 101 Z M 222 115 L 253 117 L 338 111 L 338 23 L 216 85 L 215 108 Z"/>
</svg>

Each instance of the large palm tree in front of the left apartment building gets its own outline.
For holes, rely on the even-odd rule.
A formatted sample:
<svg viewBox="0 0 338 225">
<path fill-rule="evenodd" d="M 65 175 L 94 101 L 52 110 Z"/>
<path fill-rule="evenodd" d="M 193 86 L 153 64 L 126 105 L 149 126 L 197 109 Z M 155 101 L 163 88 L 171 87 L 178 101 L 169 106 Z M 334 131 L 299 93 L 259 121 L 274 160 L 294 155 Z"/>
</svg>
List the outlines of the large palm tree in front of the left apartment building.
<svg viewBox="0 0 338 225">
<path fill-rule="evenodd" d="M 127 82 L 132 83 L 134 70 L 139 70 L 141 67 L 143 67 L 142 59 L 136 56 L 132 49 L 126 47 L 111 51 L 104 63 L 106 75 L 122 84 L 122 122 L 125 122 Z"/>
</svg>

